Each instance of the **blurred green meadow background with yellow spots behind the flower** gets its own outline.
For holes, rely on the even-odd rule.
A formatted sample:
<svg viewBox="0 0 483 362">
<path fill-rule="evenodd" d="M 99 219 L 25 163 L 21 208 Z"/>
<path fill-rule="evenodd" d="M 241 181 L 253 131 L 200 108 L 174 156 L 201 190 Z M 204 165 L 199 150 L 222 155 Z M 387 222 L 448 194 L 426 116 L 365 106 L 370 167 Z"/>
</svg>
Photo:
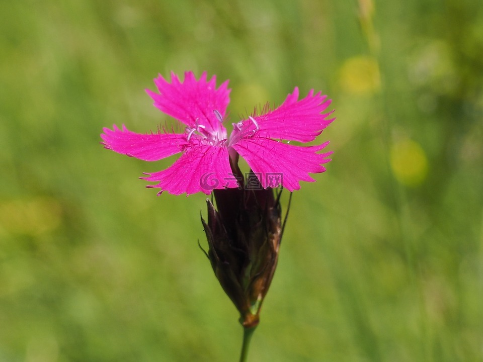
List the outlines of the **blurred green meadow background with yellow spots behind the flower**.
<svg viewBox="0 0 483 362">
<path fill-rule="evenodd" d="M 295 85 L 336 109 L 250 361 L 482 361 L 482 54 L 474 0 L 2 2 L 0 361 L 237 360 L 205 195 L 99 144 L 169 121 L 171 70 L 230 79 L 231 122 Z"/>
</svg>

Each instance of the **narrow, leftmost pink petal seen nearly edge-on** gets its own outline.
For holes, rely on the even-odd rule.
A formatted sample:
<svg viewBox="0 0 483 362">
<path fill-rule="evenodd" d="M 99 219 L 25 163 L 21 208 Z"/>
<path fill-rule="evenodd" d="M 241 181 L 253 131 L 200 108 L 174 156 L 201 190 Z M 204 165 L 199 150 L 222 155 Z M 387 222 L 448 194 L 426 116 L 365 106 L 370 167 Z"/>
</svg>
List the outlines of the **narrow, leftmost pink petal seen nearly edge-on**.
<svg viewBox="0 0 483 362">
<path fill-rule="evenodd" d="M 113 125 L 113 130 L 104 128 L 103 131 L 101 138 L 105 148 L 144 161 L 160 160 L 181 152 L 188 145 L 186 134 L 139 134 L 129 131 L 124 125 L 122 130 Z"/>
</svg>

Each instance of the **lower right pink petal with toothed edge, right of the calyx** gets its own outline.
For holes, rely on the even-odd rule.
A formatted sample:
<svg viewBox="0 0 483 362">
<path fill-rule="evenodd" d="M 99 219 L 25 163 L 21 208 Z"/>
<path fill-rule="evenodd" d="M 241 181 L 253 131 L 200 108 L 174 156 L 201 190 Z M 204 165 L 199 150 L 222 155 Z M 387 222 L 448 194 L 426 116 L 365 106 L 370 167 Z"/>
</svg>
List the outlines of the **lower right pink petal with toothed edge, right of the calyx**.
<svg viewBox="0 0 483 362">
<path fill-rule="evenodd" d="M 300 181 L 313 182 L 308 173 L 324 172 L 322 165 L 330 161 L 331 152 L 316 153 L 329 144 L 318 146 L 294 146 L 269 138 L 241 139 L 232 147 L 243 157 L 259 179 L 264 188 L 277 187 L 277 179 L 288 191 L 300 189 Z"/>
</svg>

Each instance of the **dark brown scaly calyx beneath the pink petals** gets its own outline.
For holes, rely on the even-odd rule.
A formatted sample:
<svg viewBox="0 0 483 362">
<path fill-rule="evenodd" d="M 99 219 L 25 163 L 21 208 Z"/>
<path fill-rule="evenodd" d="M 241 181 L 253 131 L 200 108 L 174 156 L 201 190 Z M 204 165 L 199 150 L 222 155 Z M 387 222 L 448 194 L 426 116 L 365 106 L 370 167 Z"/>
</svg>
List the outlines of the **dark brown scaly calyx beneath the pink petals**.
<svg viewBox="0 0 483 362">
<path fill-rule="evenodd" d="M 253 175 L 253 174 L 252 174 Z M 277 266 L 282 237 L 280 193 L 273 189 L 213 190 L 208 223 L 208 258 L 221 287 L 240 313 L 245 328 L 255 327 Z"/>
</svg>

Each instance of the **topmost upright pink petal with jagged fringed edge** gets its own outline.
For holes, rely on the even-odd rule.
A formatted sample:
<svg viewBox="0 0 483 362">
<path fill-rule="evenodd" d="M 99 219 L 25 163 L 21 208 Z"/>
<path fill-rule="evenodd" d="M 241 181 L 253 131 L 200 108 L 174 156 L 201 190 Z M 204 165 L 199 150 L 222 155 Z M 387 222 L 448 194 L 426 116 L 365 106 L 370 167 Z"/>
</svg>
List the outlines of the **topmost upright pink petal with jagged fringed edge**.
<svg viewBox="0 0 483 362">
<path fill-rule="evenodd" d="M 185 79 L 180 82 L 175 73 L 171 73 L 171 83 L 162 75 L 154 79 L 159 94 L 146 89 L 154 100 L 154 106 L 176 118 L 189 127 L 201 124 L 211 130 L 224 129 L 213 113 L 225 115 L 230 102 L 228 80 L 216 89 L 216 76 L 206 81 L 206 72 L 196 80 L 193 72 L 185 72 Z"/>
</svg>

